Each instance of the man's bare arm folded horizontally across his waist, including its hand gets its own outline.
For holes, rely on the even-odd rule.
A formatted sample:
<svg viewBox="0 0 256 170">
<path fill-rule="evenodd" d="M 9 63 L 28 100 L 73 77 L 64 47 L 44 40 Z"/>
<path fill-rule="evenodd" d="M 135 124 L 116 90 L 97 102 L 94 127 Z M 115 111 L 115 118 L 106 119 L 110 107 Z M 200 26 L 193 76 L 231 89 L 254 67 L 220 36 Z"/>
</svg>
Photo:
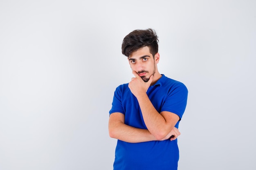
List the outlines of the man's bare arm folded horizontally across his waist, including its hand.
<svg viewBox="0 0 256 170">
<path fill-rule="evenodd" d="M 119 139 L 121 141 L 126 141 L 130 143 L 138 143 L 145 141 L 155 141 L 157 140 L 154 135 L 152 135 L 146 129 L 139 129 L 132 126 L 124 124 L 124 114 L 122 113 L 112 113 L 109 117 L 108 124 L 109 135 L 112 138 Z M 165 137 L 160 140 L 169 139 L 171 136 L 172 140 L 175 140 L 180 132 L 177 128 L 173 128 Z"/>
</svg>

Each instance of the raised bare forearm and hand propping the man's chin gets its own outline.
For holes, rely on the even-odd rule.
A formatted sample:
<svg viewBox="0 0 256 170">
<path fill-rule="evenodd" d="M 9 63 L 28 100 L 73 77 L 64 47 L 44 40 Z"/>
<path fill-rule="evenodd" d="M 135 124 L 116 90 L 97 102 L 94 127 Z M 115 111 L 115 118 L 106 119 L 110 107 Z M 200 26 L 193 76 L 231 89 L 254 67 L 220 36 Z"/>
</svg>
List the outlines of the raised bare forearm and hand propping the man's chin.
<svg viewBox="0 0 256 170">
<path fill-rule="evenodd" d="M 157 140 L 160 140 L 174 128 L 180 117 L 167 111 L 159 114 L 149 100 L 146 91 L 153 80 L 153 75 L 151 75 L 148 82 L 144 82 L 135 71 L 132 73 L 135 75 L 135 78 L 132 78 L 132 81 L 129 83 L 129 88 L 132 94 L 137 97 L 144 122 L 149 132 L 154 135 Z"/>
</svg>

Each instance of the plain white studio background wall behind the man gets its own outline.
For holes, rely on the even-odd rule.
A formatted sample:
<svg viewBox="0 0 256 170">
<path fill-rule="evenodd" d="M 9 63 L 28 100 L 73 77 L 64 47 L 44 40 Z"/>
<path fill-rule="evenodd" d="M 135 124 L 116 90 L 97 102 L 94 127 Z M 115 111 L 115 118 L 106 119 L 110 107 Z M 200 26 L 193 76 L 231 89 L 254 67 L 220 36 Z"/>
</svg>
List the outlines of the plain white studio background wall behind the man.
<svg viewBox="0 0 256 170">
<path fill-rule="evenodd" d="M 1 0 L 0 170 L 111 170 L 121 43 L 146 28 L 189 90 L 179 170 L 255 170 L 254 0 Z"/>
</svg>

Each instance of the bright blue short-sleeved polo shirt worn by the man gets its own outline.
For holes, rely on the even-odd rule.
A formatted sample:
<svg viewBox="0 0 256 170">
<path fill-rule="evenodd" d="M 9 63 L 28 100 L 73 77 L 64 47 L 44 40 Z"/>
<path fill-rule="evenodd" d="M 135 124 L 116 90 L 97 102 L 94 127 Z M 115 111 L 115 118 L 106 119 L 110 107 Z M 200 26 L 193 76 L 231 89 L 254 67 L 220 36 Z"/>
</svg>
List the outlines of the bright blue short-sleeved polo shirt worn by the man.
<svg viewBox="0 0 256 170">
<path fill-rule="evenodd" d="M 168 111 L 182 118 L 188 90 L 181 82 L 162 75 L 153 86 L 148 88 L 147 95 L 159 113 Z M 116 88 L 109 113 L 115 112 L 125 115 L 125 124 L 147 129 L 137 98 L 131 93 L 128 84 L 122 84 Z M 176 128 L 179 122 L 175 125 Z M 178 160 L 177 139 L 140 143 L 117 140 L 114 170 L 177 170 Z"/>
</svg>

